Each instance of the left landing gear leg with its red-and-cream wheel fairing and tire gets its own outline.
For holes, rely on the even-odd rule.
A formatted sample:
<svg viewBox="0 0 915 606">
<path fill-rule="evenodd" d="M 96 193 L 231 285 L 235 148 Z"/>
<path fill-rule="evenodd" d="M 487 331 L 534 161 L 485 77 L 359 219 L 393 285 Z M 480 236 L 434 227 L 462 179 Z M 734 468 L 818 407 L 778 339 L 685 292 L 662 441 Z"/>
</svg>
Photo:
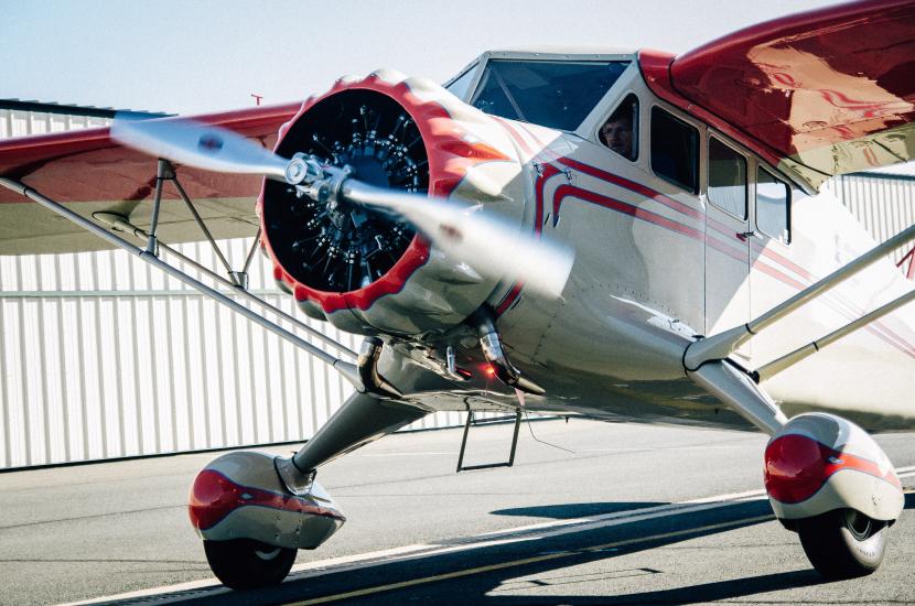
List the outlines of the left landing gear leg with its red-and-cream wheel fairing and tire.
<svg viewBox="0 0 915 606">
<path fill-rule="evenodd" d="M 211 462 L 191 488 L 191 523 L 204 540 L 214 574 L 235 589 L 280 583 L 298 549 L 315 549 L 346 521 L 315 480 L 315 469 L 372 440 L 421 419 L 427 410 L 401 400 L 377 372 L 380 345 L 359 355 L 356 392 L 295 455 L 251 451 Z"/>
</svg>

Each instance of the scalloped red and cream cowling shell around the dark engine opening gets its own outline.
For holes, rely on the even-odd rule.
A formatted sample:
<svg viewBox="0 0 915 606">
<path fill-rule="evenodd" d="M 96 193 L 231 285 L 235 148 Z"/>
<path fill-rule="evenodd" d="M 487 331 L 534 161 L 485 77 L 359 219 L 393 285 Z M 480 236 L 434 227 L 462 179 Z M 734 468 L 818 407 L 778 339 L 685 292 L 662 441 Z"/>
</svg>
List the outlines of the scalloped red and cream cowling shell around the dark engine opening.
<svg viewBox="0 0 915 606">
<path fill-rule="evenodd" d="M 426 78 L 408 78 L 392 69 L 379 69 L 364 78 L 343 77 L 323 95 L 302 104 L 280 128 L 276 150 L 283 149 L 291 139 L 290 132 L 294 136 L 297 129 L 312 127 L 303 118 L 310 117 L 316 106 L 366 93 L 392 100 L 416 125 L 416 136 L 424 147 L 422 158 L 428 162 L 424 187 L 430 195 L 485 199 L 491 208 L 520 224 L 523 206 L 513 201 L 524 197 L 517 181 L 523 166 L 512 140 L 494 118 Z M 372 97 L 362 99 L 369 102 Z M 263 197 L 261 193 L 258 214 L 263 245 L 274 262 L 274 279 L 292 292 L 302 311 L 341 329 L 384 334 L 446 329 L 463 322 L 496 285 L 495 280 L 484 279 L 460 259 L 430 255 L 429 242 L 421 236 L 412 238 L 384 275 L 362 288 L 341 292 L 306 284 L 283 267 L 284 261 L 271 246 L 273 231 L 265 219 Z M 455 292 L 460 295 L 455 296 Z M 403 310 L 410 313 L 405 314 Z"/>
</svg>

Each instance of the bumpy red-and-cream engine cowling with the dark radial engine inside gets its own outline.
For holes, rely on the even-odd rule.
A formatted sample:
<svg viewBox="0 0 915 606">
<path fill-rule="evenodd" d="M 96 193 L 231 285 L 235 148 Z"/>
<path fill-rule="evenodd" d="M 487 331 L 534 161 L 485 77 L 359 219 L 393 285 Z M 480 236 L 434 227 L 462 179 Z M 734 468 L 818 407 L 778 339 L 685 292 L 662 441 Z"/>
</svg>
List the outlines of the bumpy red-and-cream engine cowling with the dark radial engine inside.
<svg viewBox="0 0 915 606">
<path fill-rule="evenodd" d="M 274 150 L 314 154 L 354 178 L 525 216 L 523 163 L 493 118 L 437 83 L 380 71 L 342 78 L 280 129 Z M 311 317 L 348 332 L 415 335 L 466 318 L 500 286 L 430 247 L 398 217 L 330 207 L 266 181 L 258 213 L 273 277 Z"/>
</svg>

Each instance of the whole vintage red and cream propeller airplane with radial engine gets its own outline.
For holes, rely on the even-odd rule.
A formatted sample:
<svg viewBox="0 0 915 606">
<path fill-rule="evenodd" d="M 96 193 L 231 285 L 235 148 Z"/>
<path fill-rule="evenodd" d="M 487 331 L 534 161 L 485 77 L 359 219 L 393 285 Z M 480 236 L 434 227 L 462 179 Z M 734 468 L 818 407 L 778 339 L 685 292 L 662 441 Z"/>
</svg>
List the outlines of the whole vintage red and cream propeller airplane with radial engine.
<svg viewBox="0 0 915 606">
<path fill-rule="evenodd" d="M 439 410 L 755 428 L 814 566 L 866 574 L 903 493 L 859 424 L 915 426 L 915 290 L 886 259 L 915 226 L 874 246 L 817 191 L 913 158 L 913 57 L 915 3 L 868 1 L 679 56 L 491 52 L 444 87 L 379 71 L 301 107 L 10 140 L 0 253 L 130 250 L 356 387 L 294 456 L 200 473 L 228 586 L 341 527 L 320 465 Z M 239 304 L 244 271 L 211 273 L 233 297 L 168 263 L 198 225 L 257 230 L 304 314 L 366 335 L 355 364 Z"/>
</svg>

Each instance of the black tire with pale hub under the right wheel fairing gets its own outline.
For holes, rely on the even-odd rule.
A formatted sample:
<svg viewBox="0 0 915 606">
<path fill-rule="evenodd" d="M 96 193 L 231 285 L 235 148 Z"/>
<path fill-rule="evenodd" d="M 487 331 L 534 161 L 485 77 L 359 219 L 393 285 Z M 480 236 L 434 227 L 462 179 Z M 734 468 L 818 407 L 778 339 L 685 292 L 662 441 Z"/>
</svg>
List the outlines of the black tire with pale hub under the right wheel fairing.
<svg viewBox="0 0 915 606">
<path fill-rule="evenodd" d="M 854 509 L 837 509 L 798 520 L 797 533 L 814 567 L 827 578 L 852 578 L 874 572 L 886 551 L 886 522 Z"/>
</svg>

